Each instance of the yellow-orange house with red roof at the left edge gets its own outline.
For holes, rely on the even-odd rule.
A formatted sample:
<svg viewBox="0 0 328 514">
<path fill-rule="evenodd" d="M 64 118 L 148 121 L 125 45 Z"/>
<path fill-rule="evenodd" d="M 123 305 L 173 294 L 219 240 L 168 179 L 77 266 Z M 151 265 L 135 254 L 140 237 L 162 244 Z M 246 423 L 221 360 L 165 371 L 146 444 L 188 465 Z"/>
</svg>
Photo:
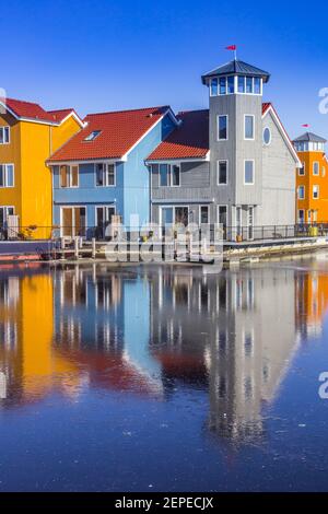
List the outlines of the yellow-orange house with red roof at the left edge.
<svg viewBox="0 0 328 514">
<path fill-rule="evenodd" d="M 83 126 L 74 109 L 47 112 L 31 102 L 0 98 L 0 238 L 51 236 L 46 161 Z"/>
</svg>

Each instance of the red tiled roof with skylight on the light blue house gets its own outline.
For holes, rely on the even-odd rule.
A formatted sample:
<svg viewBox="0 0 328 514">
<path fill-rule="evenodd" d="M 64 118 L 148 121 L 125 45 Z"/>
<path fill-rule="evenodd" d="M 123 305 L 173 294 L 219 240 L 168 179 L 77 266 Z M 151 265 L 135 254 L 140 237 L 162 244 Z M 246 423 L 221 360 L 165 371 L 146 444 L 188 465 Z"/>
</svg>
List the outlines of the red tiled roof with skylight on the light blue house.
<svg viewBox="0 0 328 514">
<path fill-rule="evenodd" d="M 90 114 L 87 126 L 55 152 L 49 162 L 119 159 L 124 156 L 144 133 L 169 109 L 150 107 L 134 110 Z M 85 138 L 93 131 L 101 133 L 93 141 Z"/>
</svg>

